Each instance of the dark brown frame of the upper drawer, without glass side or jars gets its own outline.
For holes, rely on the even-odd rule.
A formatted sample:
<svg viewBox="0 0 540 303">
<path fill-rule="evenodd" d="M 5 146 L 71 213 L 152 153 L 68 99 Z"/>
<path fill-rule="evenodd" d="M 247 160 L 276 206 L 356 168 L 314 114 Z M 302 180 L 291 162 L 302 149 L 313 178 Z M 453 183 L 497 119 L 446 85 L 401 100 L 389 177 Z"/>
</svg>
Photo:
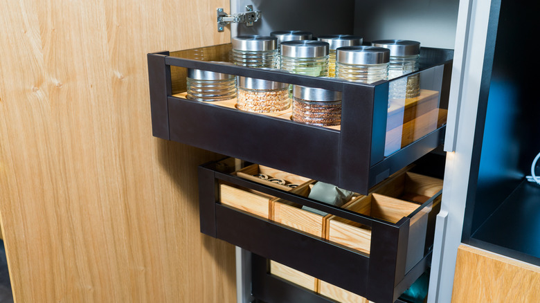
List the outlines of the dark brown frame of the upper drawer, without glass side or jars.
<svg viewBox="0 0 540 303">
<path fill-rule="evenodd" d="M 444 141 L 446 127 L 441 126 L 390 156 L 384 156 L 389 84 L 386 80 L 374 84 L 355 83 L 216 64 L 187 59 L 179 53 L 147 56 L 152 134 L 159 138 L 282 169 L 360 194 L 367 194 L 370 187 Z M 428 68 L 444 70 L 441 100 L 447 98 L 449 91 L 452 57 L 453 50 L 421 50 L 418 73 Z M 172 73 L 172 67 L 175 71 L 183 68 L 183 76 Z M 173 94 L 177 90 L 172 83 L 185 82 L 186 68 L 341 91 L 341 131 L 179 98 Z"/>
</svg>

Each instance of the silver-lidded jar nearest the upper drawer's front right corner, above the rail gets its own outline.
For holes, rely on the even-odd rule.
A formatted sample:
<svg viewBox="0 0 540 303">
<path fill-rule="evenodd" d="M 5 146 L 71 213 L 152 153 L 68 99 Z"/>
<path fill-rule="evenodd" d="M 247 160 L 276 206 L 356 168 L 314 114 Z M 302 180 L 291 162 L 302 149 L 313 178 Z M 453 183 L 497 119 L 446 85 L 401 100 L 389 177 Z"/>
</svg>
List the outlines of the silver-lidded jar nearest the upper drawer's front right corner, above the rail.
<svg viewBox="0 0 540 303">
<path fill-rule="evenodd" d="M 336 77 L 373 83 L 388 76 L 390 50 L 375 46 L 343 46 L 336 50 Z"/>
</svg>

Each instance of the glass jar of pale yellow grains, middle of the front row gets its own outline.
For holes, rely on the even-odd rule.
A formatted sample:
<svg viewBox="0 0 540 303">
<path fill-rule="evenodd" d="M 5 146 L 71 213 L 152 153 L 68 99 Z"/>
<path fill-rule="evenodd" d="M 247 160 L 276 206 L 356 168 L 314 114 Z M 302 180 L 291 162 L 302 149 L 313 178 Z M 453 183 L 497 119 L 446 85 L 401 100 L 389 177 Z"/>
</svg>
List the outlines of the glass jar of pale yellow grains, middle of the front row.
<svg viewBox="0 0 540 303">
<path fill-rule="evenodd" d="M 291 106 L 289 84 L 250 77 L 238 77 L 236 107 L 242 111 L 273 113 Z"/>
</svg>

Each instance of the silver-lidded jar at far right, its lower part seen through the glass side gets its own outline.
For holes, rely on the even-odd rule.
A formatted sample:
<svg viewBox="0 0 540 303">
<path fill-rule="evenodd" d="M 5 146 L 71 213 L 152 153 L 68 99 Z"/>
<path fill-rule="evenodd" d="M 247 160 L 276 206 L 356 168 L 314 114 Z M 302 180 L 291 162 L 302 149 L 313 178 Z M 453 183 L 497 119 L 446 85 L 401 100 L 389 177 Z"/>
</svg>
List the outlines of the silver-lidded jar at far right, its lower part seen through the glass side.
<svg viewBox="0 0 540 303">
<path fill-rule="evenodd" d="M 420 42 L 411 40 L 377 40 L 372 42 L 372 45 L 388 48 L 388 50 L 390 50 L 388 80 L 418 71 Z M 419 74 L 390 82 L 390 99 L 415 98 L 418 95 L 420 95 Z"/>
</svg>

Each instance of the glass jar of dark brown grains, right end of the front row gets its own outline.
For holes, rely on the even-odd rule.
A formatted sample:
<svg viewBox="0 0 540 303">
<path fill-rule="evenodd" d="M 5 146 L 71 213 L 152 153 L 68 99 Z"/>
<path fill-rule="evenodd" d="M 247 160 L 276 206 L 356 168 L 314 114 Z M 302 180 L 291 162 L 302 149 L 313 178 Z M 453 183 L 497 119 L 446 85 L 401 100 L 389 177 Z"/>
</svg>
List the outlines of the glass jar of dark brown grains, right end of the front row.
<svg viewBox="0 0 540 303">
<path fill-rule="evenodd" d="M 341 91 L 294 85 L 291 118 L 310 125 L 341 125 Z"/>
</svg>

